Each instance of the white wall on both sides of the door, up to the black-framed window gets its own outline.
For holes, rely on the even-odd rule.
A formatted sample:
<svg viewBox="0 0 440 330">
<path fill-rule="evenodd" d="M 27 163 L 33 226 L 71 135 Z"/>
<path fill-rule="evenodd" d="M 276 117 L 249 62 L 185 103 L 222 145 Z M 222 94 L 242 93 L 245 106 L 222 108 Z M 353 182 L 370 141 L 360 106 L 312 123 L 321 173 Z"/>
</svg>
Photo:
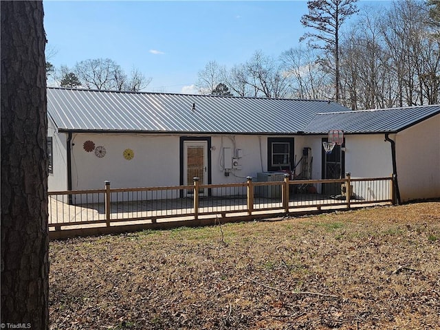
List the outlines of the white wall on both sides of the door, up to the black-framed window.
<svg viewBox="0 0 440 330">
<path fill-rule="evenodd" d="M 87 153 L 83 148 L 87 140 L 104 146 L 106 155 L 99 158 L 94 152 Z M 73 135 L 72 143 L 72 190 L 103 188 L 106 180 L 111 181 L 111 188 L 179 185 L 180 135 L 78 133 Z M 134 151 L 133 159 L 122 156 L 126 148 Z M 223 170 L 223 148 L 243 152 L 239 158 L 241 169 L 230 170 L 229 176 Z M 247 176 L 256 178 L 257 173 L 267 170 L 266 135 L 214 135 L 208 153 L 212 184 L 245 182 Z"/>
</svg>

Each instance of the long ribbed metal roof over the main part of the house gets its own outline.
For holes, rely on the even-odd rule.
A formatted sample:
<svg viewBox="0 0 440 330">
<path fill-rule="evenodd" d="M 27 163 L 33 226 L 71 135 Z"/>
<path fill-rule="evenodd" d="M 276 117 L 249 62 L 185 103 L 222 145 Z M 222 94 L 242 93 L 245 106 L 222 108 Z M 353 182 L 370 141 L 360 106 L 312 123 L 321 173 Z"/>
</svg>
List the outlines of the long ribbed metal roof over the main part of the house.
<svg viewBox="0 0 440 330">
<path fill-rule="evenodd" d="M 317 113 L 347 110 L 322 100 L 47 89 L 47 112 L 66 132 L 285 134 Z"/>
</svg>

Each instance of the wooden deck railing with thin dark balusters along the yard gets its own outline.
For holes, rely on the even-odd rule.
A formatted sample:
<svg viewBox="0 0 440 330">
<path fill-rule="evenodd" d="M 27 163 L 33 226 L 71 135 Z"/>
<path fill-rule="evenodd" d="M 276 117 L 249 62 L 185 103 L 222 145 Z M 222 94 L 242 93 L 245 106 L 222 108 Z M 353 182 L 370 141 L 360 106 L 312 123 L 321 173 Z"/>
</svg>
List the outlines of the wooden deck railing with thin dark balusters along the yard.
<svg viewBox="0 0 440 330">
<path fill-rule="evenodd" d="M 283 181 L 254 182 L 248 177 L 242 183 L 208 185 L 195 178 L 188 186 L 144 188 L 111 188 L 111 182 L 105 181 L 104 189 L 48 195 L 52 237 L 61 237 L 55 233 L 70 229 L 78 234 L 78 230 L 100 232 L 96 228 L 103 227 L 125 230 L 123 225 L 169 228 L 394 201 L 393 177 L 357 179 L 349 173 L 345 179 L 292 181 L 285 175 Z"/>
</svg>

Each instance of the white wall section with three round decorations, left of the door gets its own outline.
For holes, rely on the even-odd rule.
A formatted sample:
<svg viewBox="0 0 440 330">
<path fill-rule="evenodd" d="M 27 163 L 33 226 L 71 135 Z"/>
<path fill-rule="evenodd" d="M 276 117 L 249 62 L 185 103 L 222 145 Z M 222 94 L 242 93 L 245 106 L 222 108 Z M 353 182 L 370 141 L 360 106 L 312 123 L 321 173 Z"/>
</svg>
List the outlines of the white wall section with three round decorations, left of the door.
<svg viewBox="0 0 440 330">
<path fill-rule="evenodd" d="M 84 142 L 105 148 L 104 157 L 87 152 Z M 72 189 L 174 186 L 179 184 L 179 136 L 74 134 L 72 139 Z M 133 159 L 124 158 L 130 148 Z"/>
</svg>

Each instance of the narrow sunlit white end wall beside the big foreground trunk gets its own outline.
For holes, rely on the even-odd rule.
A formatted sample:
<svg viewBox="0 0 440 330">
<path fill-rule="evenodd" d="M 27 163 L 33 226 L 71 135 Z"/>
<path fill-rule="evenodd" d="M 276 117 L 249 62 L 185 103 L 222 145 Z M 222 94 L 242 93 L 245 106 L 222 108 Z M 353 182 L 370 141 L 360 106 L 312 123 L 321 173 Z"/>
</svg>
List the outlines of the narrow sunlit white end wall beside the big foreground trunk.
<svg viewBox="0 0 440 330">
<path fill-rule="evenodd" d="M 47 136 L 52 137 L 52 173 L 49 173 L 49 191 L 67 190 L 67 135 L 58 133 L 54 122 L 47 122 Z"/>
</svg>

